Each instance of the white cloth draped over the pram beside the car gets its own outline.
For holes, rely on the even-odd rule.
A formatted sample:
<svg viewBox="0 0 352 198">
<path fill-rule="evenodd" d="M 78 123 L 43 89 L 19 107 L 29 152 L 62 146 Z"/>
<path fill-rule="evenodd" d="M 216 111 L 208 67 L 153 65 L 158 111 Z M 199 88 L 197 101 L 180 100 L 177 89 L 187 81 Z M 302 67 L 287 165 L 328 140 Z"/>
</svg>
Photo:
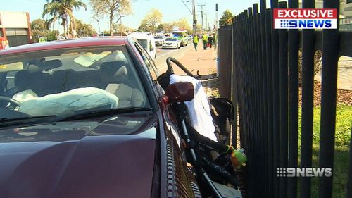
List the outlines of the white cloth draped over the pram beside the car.
<svg viewBox="0 0 352 198">
<path fill-rule="evenodd" d="M 200 135 L 208 137 L 215 142 L 218 142 L 213 124 L 213 118 L 210 114 L 210 106 L 208 104 L 208 97 L 204 92 L 203 86 L 199 80 L 191 76 L 170 75 L 170 84 L 175 82 L 191 82 L 194 86 L 194 99 L 186 101 L 191 126 L 199 132 Z"/>
</svg>

